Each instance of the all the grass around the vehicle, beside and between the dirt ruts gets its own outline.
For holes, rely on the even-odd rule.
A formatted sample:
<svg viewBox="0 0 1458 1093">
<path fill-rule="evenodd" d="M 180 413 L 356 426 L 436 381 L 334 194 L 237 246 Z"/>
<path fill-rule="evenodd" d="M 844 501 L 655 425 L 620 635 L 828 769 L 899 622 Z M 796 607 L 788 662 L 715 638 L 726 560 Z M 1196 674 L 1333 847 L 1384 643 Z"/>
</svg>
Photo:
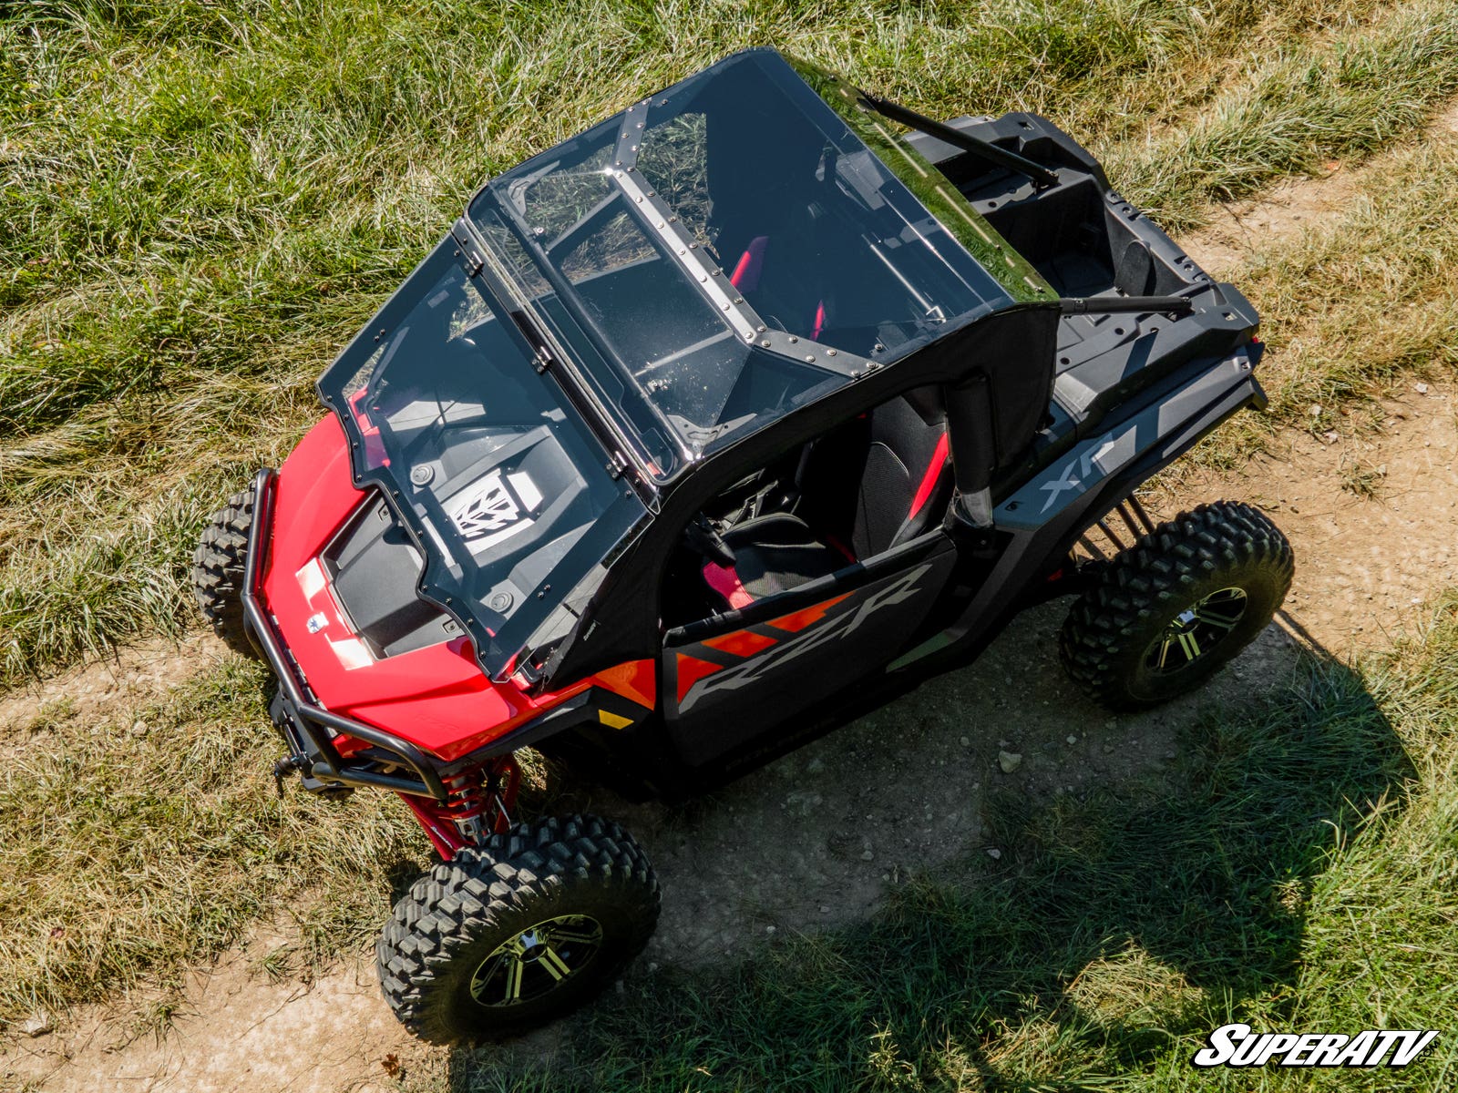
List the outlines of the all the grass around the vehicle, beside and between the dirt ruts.
<svg viewBox="0 0 1458 1093">
<path fill-rule="evenodd" d="M 1273 414 L 1207 461 L 1458 364 L 1458 138 L 1426 131 L 1458 92 L 1452 0 L 0 0 L 0 689 L 195 625 L 207 513 L 319 415 L 313 377 L 487 173 L 765 42 L 927 114 L 1042 112 L 1177 232 L 1371 160 L 1340 216 L 1242 278 Z M 763 963 L 634 987 L 573 1026 L 570 1073 L 461 1057 L 449 1081 L 1403 1083 L 1184 1062 L 1228 1014 L 1454 1011 L 1452 616 L 1191 729 L 1177 794 L 999 802 L 1016 853 L 996 866 Z M 38 711 L 0 780 L 0 1020 L 168 981 L 286 906 L 308 908 L 296 965 L 372 936 L 427 847 L 379 796 L 280 803 L 262 701 L 229 663 L 140 711 L 144 736 Z M 1408 1087 L 1443 1087 L 1454 1052 Z"/>
</svg>

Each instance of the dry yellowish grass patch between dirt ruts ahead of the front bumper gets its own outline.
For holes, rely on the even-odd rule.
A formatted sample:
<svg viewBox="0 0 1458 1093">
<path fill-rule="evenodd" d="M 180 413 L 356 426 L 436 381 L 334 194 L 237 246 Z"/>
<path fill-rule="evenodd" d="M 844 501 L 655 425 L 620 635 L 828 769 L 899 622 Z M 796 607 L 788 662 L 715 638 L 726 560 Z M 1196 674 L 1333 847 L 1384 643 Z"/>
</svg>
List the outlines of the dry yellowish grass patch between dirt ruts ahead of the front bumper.
<svg viewBox="0 0 1458 1093">
<path fill-rule="evenodd" d="M 0 780 L 0 1020 L 175 982 L 260 921 L 293 917 L 311 960 L 373 937 L 429 845 L 388 794 L 274 793 L 264 676 L 232 659 L 149 707 L 93 721 L 60 702 L 20 730 Z"/>
</svg>

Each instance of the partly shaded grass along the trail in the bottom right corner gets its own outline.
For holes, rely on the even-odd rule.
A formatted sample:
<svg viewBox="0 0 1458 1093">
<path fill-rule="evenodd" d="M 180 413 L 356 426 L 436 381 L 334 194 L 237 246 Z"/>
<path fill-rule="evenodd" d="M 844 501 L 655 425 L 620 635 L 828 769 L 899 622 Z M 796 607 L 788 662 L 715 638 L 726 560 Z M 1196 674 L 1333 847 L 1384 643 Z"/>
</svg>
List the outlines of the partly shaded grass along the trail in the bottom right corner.
<svg viewBox="0 0 1458 1093">
<path fill-rule="evenodd" d="M 1047 807 L 862 925 L 640 978 L 550 1074 L 458 1052 L 418 1089 L 1433 1090 L 1458 1043 L 1458 596 L 1424 641 L 1185 730 L 1178 774 Z M 1198 1071 L 1209 1032 L 1438 1027 L 1406 1071 Z M 1446 1078 L 1446 1080 L 1445 1080 Z"/>
</svg>

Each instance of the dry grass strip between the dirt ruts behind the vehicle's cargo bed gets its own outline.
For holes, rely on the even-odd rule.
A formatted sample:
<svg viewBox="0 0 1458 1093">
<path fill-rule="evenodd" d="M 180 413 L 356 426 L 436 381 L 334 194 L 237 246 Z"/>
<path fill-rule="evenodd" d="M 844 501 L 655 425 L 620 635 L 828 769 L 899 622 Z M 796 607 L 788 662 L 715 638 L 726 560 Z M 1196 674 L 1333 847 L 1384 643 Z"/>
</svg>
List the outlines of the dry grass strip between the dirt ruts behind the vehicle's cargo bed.
<svg viewBox="0 0 1458 1093">
<path fill-rule="evenodd" d="M 1458 377 L 1454 171 L 1458 134 L 1429 134 L 1363 166 L 1341 208 L 1257 243 L 1239 287 L 1261 312 L 1270 408 L 1226 423 L 1185 463 L 1238 466 L 1283 427 L 1371 428 L 1368 411 L 1401 383 Z M 1372 495 L 1379 479 L 1352 468 L 1349 488 Z"/>
</svg>

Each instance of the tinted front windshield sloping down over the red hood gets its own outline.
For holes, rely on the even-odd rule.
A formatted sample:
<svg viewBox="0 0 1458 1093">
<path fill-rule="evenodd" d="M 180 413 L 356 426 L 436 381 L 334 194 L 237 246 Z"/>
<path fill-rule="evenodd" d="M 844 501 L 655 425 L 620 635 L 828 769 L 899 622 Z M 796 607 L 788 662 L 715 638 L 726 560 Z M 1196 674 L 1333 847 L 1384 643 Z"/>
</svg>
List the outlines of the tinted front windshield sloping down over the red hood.
<svg viewBox="0 0 1458 1093">
<path fill-rule="evenodd" d="M 499 676 L 567 632 L 646 509 L 453 249 L 411 274 L 319 392 L 356 469 L 416 529 L 432 598 L 467 600 L 456 614 Z"/>
</svg>

